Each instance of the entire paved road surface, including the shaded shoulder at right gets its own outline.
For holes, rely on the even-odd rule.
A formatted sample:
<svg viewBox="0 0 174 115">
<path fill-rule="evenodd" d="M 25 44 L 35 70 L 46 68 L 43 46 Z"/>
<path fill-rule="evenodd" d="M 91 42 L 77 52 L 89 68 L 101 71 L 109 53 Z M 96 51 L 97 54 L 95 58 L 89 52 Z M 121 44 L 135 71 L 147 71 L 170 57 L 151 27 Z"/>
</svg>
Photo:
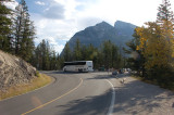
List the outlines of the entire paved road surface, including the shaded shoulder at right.
<svg viewBox="0 0 174 115">
<path fill-rule="evenodd" d="M 174 93 L 127 75 L 45 73 L 51 85 L 0 101 L 0 115 L 174 115 Z"/>
</svg>

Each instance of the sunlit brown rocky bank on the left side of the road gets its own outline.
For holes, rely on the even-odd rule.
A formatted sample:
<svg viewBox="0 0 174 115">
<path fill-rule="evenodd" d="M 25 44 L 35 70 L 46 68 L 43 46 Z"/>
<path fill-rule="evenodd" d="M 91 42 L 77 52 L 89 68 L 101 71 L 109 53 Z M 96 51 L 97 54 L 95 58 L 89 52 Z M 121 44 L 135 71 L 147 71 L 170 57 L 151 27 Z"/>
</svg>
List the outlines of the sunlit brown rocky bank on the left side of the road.
<svg viewBox="0 0 174 115">
<path fill-rule="evenodd" d="M 35 77 L 35 67 L 20 58 L 0 51 L 0 90 L 27 84 Z"/>
</svg>

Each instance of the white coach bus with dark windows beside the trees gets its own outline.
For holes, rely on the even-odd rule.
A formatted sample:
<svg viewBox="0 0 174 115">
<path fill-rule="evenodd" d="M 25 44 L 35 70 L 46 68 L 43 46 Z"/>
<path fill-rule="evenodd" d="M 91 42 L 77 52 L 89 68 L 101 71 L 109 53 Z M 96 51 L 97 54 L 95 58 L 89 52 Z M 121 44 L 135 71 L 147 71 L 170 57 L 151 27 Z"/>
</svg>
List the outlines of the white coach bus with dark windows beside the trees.
<svg viewBox="0 0 174 115">
<path fill-rule="evenodd" d="M 64 72 L 92 72 L 92 61 L 73 61 L 64 62 Z"/>
</svg>

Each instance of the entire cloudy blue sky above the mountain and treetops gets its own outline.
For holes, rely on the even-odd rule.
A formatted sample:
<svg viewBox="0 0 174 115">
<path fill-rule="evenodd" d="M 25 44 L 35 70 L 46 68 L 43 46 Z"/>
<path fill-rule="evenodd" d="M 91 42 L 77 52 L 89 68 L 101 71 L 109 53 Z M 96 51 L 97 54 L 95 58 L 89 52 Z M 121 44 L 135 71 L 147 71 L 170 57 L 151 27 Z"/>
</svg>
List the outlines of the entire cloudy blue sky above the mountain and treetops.
<svg viewBox="0 0 174 115">
<path fill-rule="evenodd" d="M 21 0 L 14 0 L 14 7 Z M 120 20 L 142 26 L 156 21 L 162 0 L 25 0 L 34 21 L 36 44 L 47 39 L 57 52 L 77 31 L 102 21 L 111 25 Z M 174 0 L 170 0 L 174 8 Z M 174 11 L 174 9 L 172 9 Z"/>
</svg>

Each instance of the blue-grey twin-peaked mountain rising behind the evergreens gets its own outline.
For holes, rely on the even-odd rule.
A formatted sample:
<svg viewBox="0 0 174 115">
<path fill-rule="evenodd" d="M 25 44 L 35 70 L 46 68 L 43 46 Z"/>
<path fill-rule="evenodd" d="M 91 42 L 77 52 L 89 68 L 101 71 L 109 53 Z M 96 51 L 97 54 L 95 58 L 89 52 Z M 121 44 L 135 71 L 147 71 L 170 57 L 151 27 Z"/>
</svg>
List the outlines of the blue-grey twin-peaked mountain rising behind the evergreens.
<svg viewBox="0 0 174 115">
<path fill-rule="evenodd" d="M 73 49 L 76 39 L 79 39 L 82 44 L 92 44 L 99 48 L 104 40 L 111 40 L 117 47 L 125 47 L 125 42 L 132 39 L 135 25 L 122 21 L 115 22 L 114 26 L 107 22 L 101 22 L 95 26 L 90 26 L 76 33 L 69 41 L 70 48 Z"/>
</svg>

